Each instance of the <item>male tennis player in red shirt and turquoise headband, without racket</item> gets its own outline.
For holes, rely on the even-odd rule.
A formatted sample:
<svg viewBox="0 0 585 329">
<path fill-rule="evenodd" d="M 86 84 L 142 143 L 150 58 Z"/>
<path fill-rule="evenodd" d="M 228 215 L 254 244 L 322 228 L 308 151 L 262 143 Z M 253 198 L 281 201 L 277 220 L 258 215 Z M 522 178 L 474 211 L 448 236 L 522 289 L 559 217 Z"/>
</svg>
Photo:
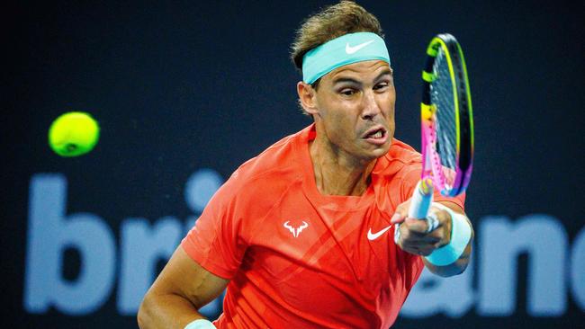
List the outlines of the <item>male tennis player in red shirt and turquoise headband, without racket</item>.
<svg viewBox="0 0 585 329">
<path fill-rule="evenodd" d="M 140 327 L 388 328 L 425 265 L 464 271 L 472 237 L 451 231 L 470 225 L 464 197 L 436 195 L 432 220 L 406 218 L 420 155 L 393 138 L 392 68 L 374 15 L 352 2 L 326 8 L 303 22 L 292 57 L 314 123 L 217 191 L 148 290 Z M 454 241 L 464 252 L 450 263 L 425 258 Z M 226 287 L 211 323 L 197 310 Z"/>
</svg>

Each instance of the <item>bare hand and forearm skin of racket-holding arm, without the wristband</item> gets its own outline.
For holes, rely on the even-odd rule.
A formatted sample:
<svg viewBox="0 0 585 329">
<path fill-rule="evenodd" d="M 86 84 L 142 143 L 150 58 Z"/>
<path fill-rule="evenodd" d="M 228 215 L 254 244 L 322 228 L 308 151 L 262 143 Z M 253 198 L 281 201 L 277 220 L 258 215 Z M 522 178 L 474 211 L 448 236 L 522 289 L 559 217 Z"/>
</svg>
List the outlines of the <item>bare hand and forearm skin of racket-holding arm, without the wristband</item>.
<svg viewBox="0 0 585 329">
<path fill-rule="evenodd" d="M 453 202 L 440 202 L 442 205 L 452 209 L 456 213 L 464 214 L 463 209 L 457 206 Z M 437 219 L 439 220 L 439 225 L 437 229 L 434 231 L 426 234 L 424 232 L 427 231 L 428 223 L 426 220 L 419 220 L 414 218 L 407 218 L 408 209 L 410 206 L 410 200 L 402 203 L 397 209 L 396 214 L 399 217 L 392 218 L 393 223 L 401 223 L 401 239 L 399 241 L 399 245 L 407 253 L 414 253 L 419 254 L 422 256 L 428 256 L 429 254 L 433 253 L 436 249 L 447 245 L 451 241 L 451 216 L 449 213 L 444 209 L 433 209 L 431 211 L 436 211 Z M 472 227 L 471 222 L 468 218 L 465 218 L 470 227 Z M 459 259 L 455 262 L 446 265 L 446 266 L 437 266 L 430 262 L 428 262 L 425 258 L 423 258 L 423 262 L 425 266 L 427 266 L 428 270 L 440 275 L 442 277 L 450 277 L 460 273 L 463 273 L 469 264 L 469 259 L 472 253 L 472 243 L 473 243 L 473 227 L 472 227 L 472 238 L 469 240 L 469 243 L 465 247 L 464 253 L 461 254 Z"/>
</svg>

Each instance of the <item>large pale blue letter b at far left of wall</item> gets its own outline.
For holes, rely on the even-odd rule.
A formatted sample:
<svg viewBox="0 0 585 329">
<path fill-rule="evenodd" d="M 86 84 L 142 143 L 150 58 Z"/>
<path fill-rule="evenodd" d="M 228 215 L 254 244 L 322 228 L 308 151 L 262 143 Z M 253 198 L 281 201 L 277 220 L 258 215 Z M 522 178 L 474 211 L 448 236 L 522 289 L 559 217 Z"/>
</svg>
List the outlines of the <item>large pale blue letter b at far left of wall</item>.
<svg viewBox="0 0 585 329">
<path fill-rule="evenodd" d="M 67 315 L 93 312 L 110 296 L 115 270 L 112 231 L 89 213 L 65 217 L 67 180 L 60 174 L 31 178 L 24 308 L 45 313 L 51 305 Z M 63 253 L 81 255 L 76 280 L 62 277 Z"/>
</svg>

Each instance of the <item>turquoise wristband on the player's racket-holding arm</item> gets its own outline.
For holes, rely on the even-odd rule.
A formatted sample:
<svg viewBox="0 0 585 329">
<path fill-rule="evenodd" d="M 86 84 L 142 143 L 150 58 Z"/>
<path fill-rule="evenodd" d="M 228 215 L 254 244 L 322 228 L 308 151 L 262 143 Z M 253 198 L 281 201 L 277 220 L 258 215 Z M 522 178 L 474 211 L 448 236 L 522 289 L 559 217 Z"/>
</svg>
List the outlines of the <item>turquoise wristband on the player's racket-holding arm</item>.
<svg viewBox="0 0 585 329">
<path fill-rule="evenodd" d="M 451 215 L 451 241 L 448 245 L 438 248 L 425 258 L 433 265 L 445 266 L 458 260 L 464 253 L 469 240 L 472 238 L 472 227 L 464 215 L 458 214 L 437 202 L 433 202 L 433 206 L 446 210 Z"/>
</svg>

